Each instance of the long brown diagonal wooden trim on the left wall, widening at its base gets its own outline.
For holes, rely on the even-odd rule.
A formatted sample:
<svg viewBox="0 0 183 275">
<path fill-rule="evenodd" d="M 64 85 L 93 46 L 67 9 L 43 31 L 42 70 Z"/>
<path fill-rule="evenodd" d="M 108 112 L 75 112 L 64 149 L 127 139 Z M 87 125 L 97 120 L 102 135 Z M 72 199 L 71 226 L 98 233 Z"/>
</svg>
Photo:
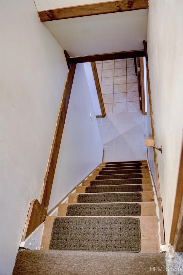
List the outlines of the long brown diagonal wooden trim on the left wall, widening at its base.
<svg viewBox="0 0 183 275">
<path fill-rule="evenodd" d="M 55 174 L 57 158 L 58 158 L 58 153 L 59 153 L 59 148 L 60 148 L 60 143 L 61 143 L 61 138 L 63 133 L 63 127 L 65 124 L 65 118 L 66 118 L 69 98 L 71 94 L 75 68 L 76 68 L 76 65 L 72 64 L 71 69 L 69 70 L 67 75 L 67 81 L 63 92 L 60 111 L 57 119 L 57 126 L 55 129 L 51 153 L 49 156 L 47 171 L 44 179 L 44 185 L 41 191 L 40 203 L 37 199 L 31 202 L 28 216 L 27 216 L 27 221 L 26 221 L 23 236 L 22 236 L 22 241 L 25 241 L 25 239 L 41 224 L 41 222 L 44 221 L 47 214 L 49 199 L 51 195 L 51 188 L 53 184 L 53 178 Z"/>
</svg>

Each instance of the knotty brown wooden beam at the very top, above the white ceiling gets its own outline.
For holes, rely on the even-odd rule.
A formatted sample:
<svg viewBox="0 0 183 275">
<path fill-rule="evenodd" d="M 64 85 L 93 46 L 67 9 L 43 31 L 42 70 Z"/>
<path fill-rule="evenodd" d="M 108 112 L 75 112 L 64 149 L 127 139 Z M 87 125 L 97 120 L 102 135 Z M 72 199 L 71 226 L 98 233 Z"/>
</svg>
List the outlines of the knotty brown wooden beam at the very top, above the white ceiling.
<svg viewBox="0 0 183 275">
<path fill-rule="evenodd" d="M 148 9 L 148 0 L 122 0 L 108 1 L 102 3 L 94 3 L 87 5 L 78 5 L 72 7 L 63 7 L 58 9 L 50 9 L 38 11 L 41 22 L 82 17 L 88 15 L 97 15 L 104 13 L 114 13 L 121 11 L 133 11 L 137 9 Z"/>
</svg>

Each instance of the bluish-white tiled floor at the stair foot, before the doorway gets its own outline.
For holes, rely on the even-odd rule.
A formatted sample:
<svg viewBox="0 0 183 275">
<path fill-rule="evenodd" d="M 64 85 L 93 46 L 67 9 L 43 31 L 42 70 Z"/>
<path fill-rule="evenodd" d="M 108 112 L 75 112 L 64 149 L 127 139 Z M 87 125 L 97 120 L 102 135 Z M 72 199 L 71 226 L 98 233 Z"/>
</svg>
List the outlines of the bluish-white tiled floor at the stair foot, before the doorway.
<svg viewBox="0 0 183 275">
<path fill-rule="evenodd" d="M 97 118 L 97 122 L 104 146 L 104 162 L 146 159 L 146 116 L 141 111 L 111 112 L 105 118 Z"/>
</svg>

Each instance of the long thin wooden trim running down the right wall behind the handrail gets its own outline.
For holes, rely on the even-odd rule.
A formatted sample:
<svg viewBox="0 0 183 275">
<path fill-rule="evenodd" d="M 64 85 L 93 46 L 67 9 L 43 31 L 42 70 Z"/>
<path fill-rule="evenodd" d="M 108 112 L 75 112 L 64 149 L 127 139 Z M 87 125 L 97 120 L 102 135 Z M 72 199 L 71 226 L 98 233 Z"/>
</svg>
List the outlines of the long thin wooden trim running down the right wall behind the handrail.
<svg viewBox="0 0 183 275">
<path fill-rule="evenodd" d="M 151 89 L 150 89 L 150 79 L 149 79 L 149 67 L 148 61 L 146 61 L 146 69 L 147 69 L 147 79 L 148 79 L 148 94 L 149 94 L 149 106 L 150 106 L 150 118 L 151 118 L 151 129 L 152 129 L 152 138 L 155 141 L 155 133 L 154 133 L 154 120 L 153 120 L 153 113 L 152 113 L 152 100 L 151 100 Z M 155 165 L 155 175 L 156 175 L 156 195 L 158 198 L 158 208 L 160 213 L 160 240 L 161 244 L 165 244 L 165 235 L 164 235 L 164 222 L 163 222 L 163 208 L 162 208 L 162 200 L 160 195 L 160 182 L 159 182 L 159 175 L 158 175 L 158 162 L 157 162 L 157 155 L 156 149 L 153 148 L 154 152 L 154 165 Z"/>
</svg>

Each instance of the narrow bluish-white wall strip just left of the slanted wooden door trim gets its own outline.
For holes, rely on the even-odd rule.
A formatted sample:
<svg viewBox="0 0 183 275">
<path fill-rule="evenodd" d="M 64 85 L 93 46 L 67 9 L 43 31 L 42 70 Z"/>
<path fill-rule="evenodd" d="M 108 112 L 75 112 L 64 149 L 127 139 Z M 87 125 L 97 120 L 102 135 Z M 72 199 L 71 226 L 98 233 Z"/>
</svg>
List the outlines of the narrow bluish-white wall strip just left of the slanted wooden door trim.
<svg viewBox="0 0 183 275">
<path fill-rule="evenodd" d="M 92 65 L 90 62 L 85 62 L 85 63 L 83 63 L 83 65 L 85 68 L 85 73 L 86 73 L 86 78 L 87 78 L 87 82 L 88 82 L 90 95 L 92 97 L 95 116 L 101 116 L 102 112 L 101 112 L 100 103 L 98 100 L 98 94 L 97 94 L 97 89 L 96 89 L 96 85 L 95 85 L 94 74 L 92 71 Z"/>
</svg>

